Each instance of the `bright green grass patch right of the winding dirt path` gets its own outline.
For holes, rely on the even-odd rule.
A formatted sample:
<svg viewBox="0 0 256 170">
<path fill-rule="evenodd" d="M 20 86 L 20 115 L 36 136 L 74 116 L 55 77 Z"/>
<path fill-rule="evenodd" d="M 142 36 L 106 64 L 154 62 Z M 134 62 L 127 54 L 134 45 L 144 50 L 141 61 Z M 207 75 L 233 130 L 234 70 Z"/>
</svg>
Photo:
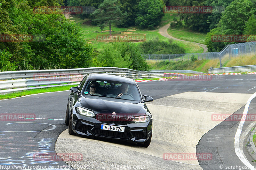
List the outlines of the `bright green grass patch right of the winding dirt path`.
<svg viewBox="0 0 256 170">
<path fill-rule="evenodd" d="M 205 33 L 196 33 L 185 28 L 168 28 L 167 32 L 175 38 L 205 44 Z"/>
</svg>

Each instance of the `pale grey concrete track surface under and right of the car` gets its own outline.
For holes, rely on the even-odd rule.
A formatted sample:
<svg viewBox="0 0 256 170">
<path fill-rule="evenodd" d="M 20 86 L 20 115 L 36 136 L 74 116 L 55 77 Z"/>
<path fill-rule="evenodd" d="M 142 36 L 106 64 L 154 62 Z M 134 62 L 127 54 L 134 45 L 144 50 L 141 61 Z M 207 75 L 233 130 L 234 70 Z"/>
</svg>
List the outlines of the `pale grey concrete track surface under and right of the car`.
<svg viewBox="0 0 256 170">
<path fill-rule="evenodd" d="M 192 157 L 196 155 L 196 145 L 201 137 L 223 121 L 212 115 L 228 117 L 244 106 L 250 96 L 243 93 L 184 92 L 147 102 L 153 116 L 152 141 L 147 148 L 71 136 L 65 130 L 57 139 L 55 150 L 57 153 L 82 153 L 82 161 L 65 162 L 90 166 L 89 169 L 124 169 L 124 166 L 132 169 L 139 169 L 139 166 L 142 169 L 202 169 Z M 208 156 L 203 155 L 202 159 L 211 159 Z"/>
</svg>

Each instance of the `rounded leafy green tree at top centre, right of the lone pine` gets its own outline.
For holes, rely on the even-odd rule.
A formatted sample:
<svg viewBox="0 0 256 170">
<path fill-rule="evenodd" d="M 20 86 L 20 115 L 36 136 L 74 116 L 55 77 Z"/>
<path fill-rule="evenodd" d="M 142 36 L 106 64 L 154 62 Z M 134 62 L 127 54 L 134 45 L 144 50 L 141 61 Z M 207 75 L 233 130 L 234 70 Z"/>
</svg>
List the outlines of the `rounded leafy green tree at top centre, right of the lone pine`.
<svg viewBox="0 0 256 170">
<path fill-rule="evenodd" d="M 141 0 L 138 5 L 135 24 L 142 28 L 152 29 L 161 22 L 164 16 L 163 8 L 163 0 Z"/>
</svg>

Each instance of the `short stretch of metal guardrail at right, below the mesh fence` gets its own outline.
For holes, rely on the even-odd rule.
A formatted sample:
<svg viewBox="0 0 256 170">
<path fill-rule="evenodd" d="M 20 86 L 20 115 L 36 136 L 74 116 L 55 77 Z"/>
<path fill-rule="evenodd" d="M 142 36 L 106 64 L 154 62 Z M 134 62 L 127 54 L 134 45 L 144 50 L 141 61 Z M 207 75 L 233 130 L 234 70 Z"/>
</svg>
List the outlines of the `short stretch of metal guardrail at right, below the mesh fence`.
<svg viewBox="0 0 256 170">
<path fill-rule="evenodd" d="M 245 65 L 245 66 L 235 66 L 235 67 L 221 67 L 215 69 L 209 69 L 210 74 L 213 73 L 230 73 L 230 72 L 255 72 L 256 65 Z"/>
</svg>

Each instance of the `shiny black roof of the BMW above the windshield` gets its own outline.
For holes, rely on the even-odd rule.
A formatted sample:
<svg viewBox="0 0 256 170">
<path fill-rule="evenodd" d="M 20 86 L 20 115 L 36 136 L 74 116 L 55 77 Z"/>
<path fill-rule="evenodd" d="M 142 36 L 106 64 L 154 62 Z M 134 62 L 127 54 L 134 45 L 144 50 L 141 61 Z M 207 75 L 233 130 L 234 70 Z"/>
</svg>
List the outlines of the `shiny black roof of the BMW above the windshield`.
<svg viewBox="0 0 256 170">
<path fill-rule="evenodd" d="M 88 78 L 89 79 L 103 79 L 103 80 L 106 79 L 106 80 L 110 80 L 110 81 L 120 81 L 120 82 L 124 82 L 124 83 L 135 84 L 134 80 L 131 78 L 110 75 L 110 74 L 90 73 L 88 75 Z"/>
</svg>

